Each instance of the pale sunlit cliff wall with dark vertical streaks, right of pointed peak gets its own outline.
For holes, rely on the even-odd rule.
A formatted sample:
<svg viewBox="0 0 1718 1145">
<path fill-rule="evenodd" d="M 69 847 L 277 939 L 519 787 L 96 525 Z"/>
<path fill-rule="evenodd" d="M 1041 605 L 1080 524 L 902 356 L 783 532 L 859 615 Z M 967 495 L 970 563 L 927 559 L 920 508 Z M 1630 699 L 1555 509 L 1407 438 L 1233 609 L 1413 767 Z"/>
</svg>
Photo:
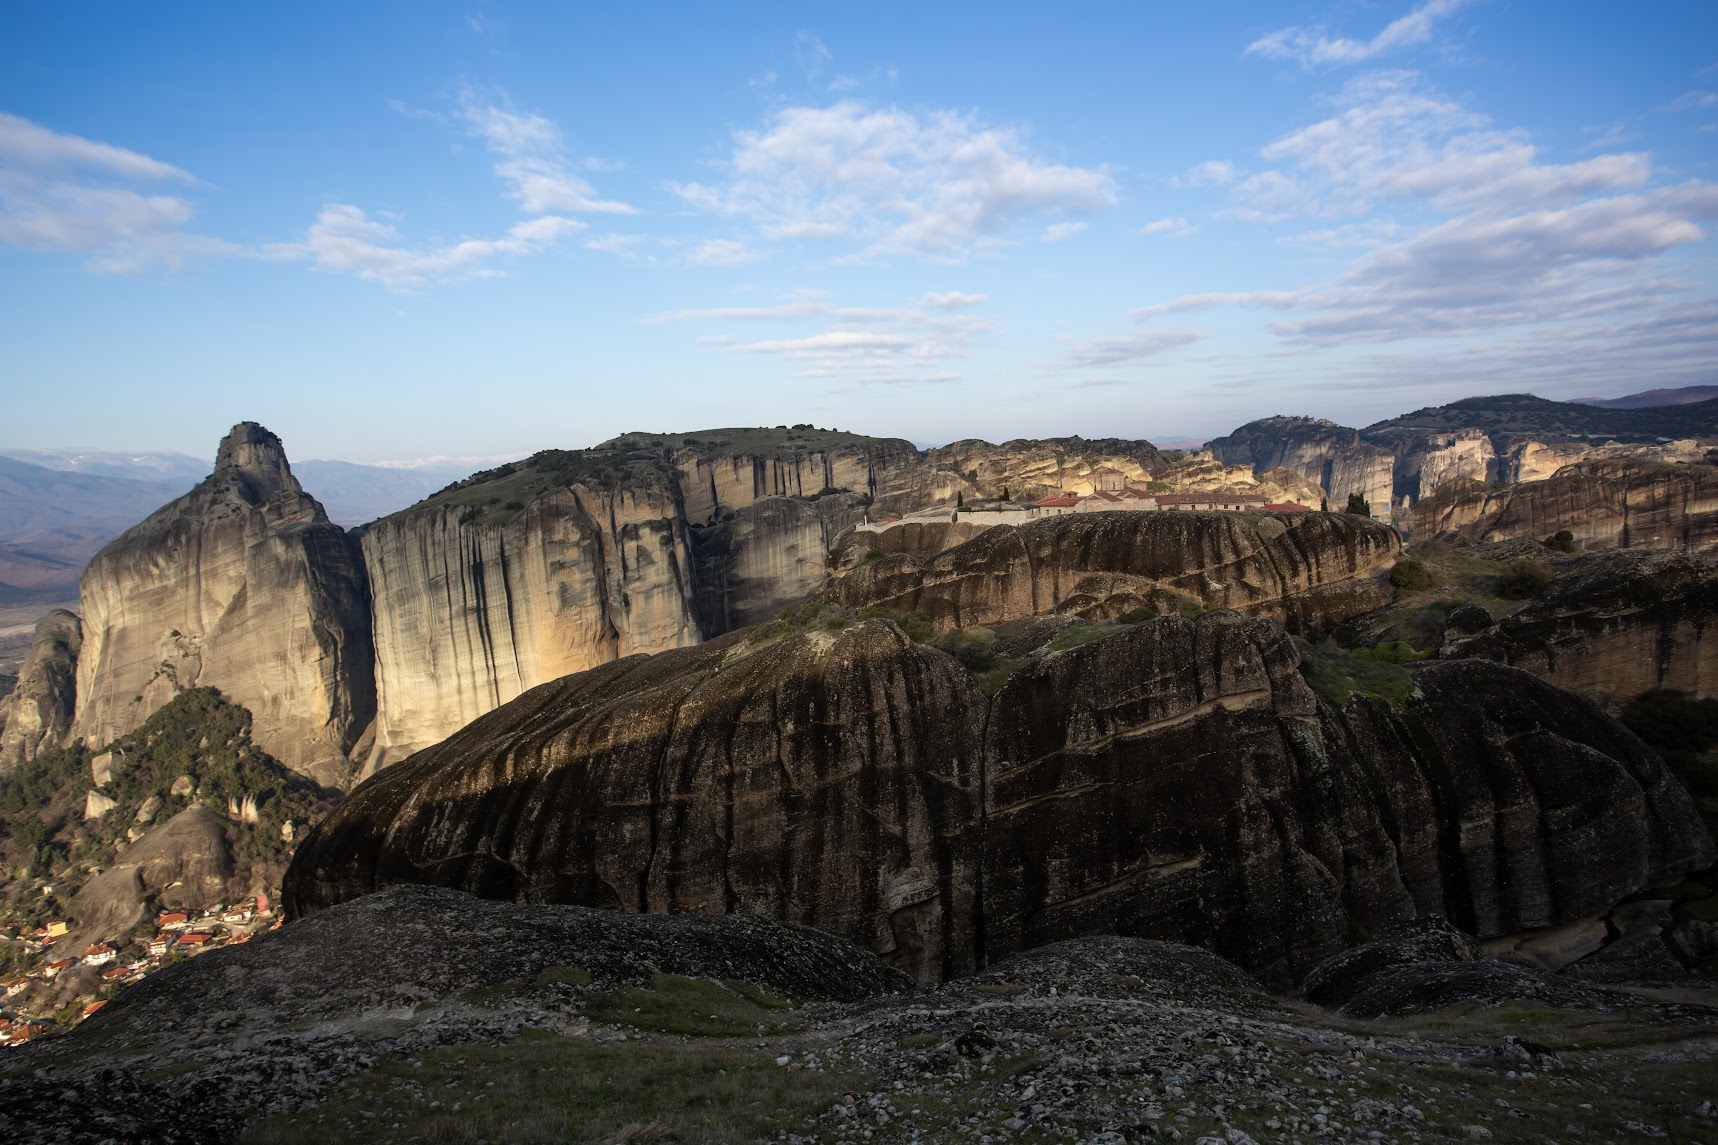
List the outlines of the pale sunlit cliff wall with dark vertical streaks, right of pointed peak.
<svg viewBox="0 0 1718 1145">
<path fill-rule="evenodd" d="M 364 533 L 376 598 L 375 770 L 527 688 L 698 643 L 692 560 L 670 490 L 538 497 L 503 523 L 430 504 Z"/>
</svg>

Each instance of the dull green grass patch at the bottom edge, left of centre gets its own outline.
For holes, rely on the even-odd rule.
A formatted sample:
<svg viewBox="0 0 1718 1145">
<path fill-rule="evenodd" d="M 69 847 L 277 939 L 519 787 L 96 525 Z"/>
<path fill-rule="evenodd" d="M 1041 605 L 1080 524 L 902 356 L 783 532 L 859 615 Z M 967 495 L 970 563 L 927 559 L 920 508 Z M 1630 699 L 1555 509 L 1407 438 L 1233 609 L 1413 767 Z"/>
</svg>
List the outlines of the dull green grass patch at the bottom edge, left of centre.
<svg viewBox="0 0 1718 1145">
<path fill-rule="evenodd" d="M 393 1059 L 314 1109 L 268 1117 L 247 1145 L 326 1142 L 747 1142 L 801 1124 L 864 1078 L 775 1064 L 775 1050 L 600 1045 L 527 1032 Z"/>
</svg>

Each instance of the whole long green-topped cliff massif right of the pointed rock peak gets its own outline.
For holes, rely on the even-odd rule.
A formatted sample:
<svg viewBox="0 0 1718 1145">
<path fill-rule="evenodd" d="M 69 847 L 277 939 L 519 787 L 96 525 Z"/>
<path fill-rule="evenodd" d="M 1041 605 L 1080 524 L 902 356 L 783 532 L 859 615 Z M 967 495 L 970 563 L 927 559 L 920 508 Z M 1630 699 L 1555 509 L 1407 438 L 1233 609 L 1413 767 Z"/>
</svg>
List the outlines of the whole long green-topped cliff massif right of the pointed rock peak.
<svg viewBox="0 0 1718 1145">
<path fill-rule="evenodd" d="M 947 476 L 911 442 L 813 426 L 625 433 L 378 521 L 362 540 L 378 693 L 366 774 L 545 681 L 773 617 L 823 583 L 861 505 L 919 507 Z"/>
</svg>

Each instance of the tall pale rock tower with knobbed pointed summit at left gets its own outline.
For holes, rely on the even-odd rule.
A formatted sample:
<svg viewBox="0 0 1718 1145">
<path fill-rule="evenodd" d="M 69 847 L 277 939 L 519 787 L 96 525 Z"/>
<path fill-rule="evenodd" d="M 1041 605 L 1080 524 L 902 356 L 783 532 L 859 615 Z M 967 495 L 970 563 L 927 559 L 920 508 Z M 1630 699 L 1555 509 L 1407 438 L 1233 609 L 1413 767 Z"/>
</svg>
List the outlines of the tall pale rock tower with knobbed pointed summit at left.
<svg viewBox="0 0 1718 1145">
<path fill-rule="evenodd" d="M 98 552 L 81 590 L 74 736 L 105 744 L 210 686 L 277 760 L 345 781 L 375 717 L 369 591 L 278 437 L 234 426 L 215 473 Z"/>
</svg>

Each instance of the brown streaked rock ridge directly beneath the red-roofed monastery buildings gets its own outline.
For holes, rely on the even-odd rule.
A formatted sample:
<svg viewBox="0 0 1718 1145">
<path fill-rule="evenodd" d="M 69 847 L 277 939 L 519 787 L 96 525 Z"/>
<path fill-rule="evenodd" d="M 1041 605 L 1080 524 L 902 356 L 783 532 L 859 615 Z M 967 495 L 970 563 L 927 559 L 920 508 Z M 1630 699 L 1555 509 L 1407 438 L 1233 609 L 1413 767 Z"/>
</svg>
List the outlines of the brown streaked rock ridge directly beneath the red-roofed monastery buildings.
<svg viewBox="0 0 1718 1145">
<path fill-rule="evenodd" d="M 826 597 L 924 612 L 940 628 L 1196 603 L 1321 631 L 1388 600 L 1371 574 L 1395 560 L 1400 543 L 1395 530 L 1352 514 L 1067 514 L 993 528 L 933 557 L 837 569 Z"/>
</svg>

